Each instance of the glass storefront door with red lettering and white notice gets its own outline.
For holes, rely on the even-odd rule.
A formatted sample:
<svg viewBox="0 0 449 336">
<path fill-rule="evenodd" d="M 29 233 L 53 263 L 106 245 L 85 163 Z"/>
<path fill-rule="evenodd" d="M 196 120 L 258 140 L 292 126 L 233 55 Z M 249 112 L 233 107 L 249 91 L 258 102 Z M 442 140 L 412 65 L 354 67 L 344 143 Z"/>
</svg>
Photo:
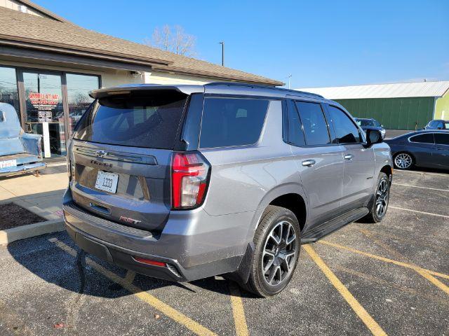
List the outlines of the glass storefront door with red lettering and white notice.
<svg viewBox="0 0 449 336">
<path fill-rule="evenodd" d="M 22 71 L 25 93 L 25 132 L 43 135 L 46 158 L 66 154 L 66 123 L 62 74 Z"/>
</svg>

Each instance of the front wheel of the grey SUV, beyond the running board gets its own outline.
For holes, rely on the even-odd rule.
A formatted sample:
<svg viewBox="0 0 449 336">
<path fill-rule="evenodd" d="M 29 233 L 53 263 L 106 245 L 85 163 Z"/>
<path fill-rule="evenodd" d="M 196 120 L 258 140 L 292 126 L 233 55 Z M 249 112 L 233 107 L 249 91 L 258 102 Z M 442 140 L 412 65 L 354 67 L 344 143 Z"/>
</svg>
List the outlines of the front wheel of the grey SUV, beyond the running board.
<svg viewBox="0 0 449 336">
<path fill-rule="evenodd" d="M 363 218 L 364 223 L 379 223 L 385 214 L 387 214 L 388 203 L 390 199 L 390 181 L 387 174 L 380 173 L 377 178 L 377 184 L 374 191 L 373 206 L 370 212 Z"/>
</svg>

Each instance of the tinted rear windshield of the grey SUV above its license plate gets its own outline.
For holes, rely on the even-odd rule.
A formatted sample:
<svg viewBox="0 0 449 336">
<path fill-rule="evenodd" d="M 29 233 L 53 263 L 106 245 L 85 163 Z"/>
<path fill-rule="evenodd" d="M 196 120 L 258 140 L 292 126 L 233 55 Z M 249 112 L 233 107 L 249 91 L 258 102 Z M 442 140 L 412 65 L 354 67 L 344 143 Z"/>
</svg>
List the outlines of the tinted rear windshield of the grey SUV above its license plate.
<svg viewBox="0 0 449 336">
<path fill-rule="evenodd" d="M 186 99 L 174 91 L 100 98 L 76 126 L 74 139 L 173 149 Z"/>
</svg>

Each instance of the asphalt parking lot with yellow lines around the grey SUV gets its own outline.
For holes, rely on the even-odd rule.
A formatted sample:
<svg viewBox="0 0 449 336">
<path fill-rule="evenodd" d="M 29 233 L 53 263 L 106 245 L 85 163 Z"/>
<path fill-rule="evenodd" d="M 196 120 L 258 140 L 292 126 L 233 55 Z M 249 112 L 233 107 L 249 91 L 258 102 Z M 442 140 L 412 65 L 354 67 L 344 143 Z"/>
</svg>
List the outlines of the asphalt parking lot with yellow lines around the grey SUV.
<svg viewBox="0 0 449 336">
<path fill-rule="evenodd" d="M 286 290 L 127 272 L 65 232 L 0 247 L 0 335 L 449 335 L 449 174 L 394 172 L 387 217 L 302 246 Z"/>
</svg>

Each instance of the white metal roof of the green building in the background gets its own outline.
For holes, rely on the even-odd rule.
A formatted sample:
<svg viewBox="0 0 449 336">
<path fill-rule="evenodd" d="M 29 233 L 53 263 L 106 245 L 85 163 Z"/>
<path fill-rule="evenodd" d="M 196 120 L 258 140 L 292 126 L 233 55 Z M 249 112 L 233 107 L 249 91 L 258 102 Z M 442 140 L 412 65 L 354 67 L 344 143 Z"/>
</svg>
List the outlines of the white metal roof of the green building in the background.
<svg viewBox="0 0 449 336">
<path fill-rule="evenodd" d="M 449 81 L 307 87 L 297 90 L 321 94 L 328 99 L 441 97 L 448 92 Z"/>
</svg>

